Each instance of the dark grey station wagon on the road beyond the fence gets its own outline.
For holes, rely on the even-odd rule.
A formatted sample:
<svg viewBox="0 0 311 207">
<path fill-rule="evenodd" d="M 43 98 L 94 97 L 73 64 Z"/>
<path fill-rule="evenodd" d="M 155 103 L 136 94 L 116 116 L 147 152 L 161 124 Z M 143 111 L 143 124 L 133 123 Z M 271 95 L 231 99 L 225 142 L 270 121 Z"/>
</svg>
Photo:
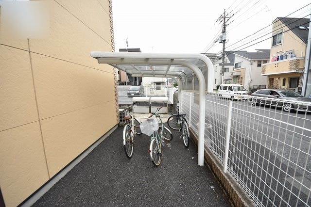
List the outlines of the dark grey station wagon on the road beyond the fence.
<svg viewBox="0 0 311 207">
<path fill-rule="evenodd" d="M 250 101 L 252 105 L 257 105 L 259 103 L 269 106 L 274 105 L 276 107 L 282 107 L 282 109 L 287 112 L 291 111 L 292 109 L 301 111 L 306 110 L 311 111 L 311 98 L 301 96 L 300 94 L 291 90 L 261 89 L 253 93 L 251 96 L 267 98 L 267 99 L 259 99 L 256 97 L 251 97 Z"/>
</svg>

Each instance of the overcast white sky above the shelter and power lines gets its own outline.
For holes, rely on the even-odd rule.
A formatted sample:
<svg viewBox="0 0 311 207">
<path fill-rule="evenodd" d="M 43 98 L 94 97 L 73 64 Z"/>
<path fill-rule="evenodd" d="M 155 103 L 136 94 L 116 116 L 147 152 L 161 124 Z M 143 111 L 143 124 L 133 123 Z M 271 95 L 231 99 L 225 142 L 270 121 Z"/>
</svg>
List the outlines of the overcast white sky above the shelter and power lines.
<svg viewBox="0 0 311 207">
<path fill-rule="evenodd" d="M 115 51 L 126 48 L 128 39 L 128 48 L 140 48 L 142 52 L 219 53 L 222 44 L 214 41 L 223 22 L 216 20 L 224 10 L 231 16 L 226 19 L 226 50 L 270 49 L 273 20 L 296 10 L 288 17 L 310 18 L 310 3 L 310 0 L 112 0 Z"/>
</svg>

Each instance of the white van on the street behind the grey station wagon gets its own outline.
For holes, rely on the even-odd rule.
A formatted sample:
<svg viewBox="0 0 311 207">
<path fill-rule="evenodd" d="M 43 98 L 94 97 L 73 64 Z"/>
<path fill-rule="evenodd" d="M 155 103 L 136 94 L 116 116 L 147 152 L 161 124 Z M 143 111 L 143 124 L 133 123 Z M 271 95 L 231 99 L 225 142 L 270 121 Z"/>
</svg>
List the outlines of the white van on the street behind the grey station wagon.
<svg viewBox="0 0 311 207">
<path fill-rule="evenodd" d="M 221 84 L 218 89 L 219 96 L 232 100 L 246 100 L 247 91 L 240 84 Z"/>
</svg>

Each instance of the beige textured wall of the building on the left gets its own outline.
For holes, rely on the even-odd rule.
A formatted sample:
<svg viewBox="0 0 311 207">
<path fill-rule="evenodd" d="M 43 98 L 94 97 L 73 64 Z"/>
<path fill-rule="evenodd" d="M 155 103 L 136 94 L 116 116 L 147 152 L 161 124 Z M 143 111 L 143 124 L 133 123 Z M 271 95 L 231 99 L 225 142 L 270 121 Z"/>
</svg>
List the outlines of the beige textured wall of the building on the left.
<svg viewBox="0 0 311 207">
<path fill-rule="evenodd" d="M 0 188 L 8 207 L 118 122 L 116 73 L 89 55 L 113 50 L 109 1 L 57 2 L 49 1 L 49 38 L 0 39 Z"/>
</svg>

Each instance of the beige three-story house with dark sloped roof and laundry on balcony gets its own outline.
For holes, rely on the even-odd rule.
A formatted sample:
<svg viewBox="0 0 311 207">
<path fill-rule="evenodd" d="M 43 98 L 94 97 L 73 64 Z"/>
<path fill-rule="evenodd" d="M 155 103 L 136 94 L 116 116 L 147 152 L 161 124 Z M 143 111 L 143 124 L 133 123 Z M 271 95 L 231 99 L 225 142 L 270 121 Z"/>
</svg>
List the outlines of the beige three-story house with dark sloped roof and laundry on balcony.
<svg viewBox="0 0 311 207">
<path fill-rule="evenodd" d="M 262 65 L 268 88 L 302 86 L 308 42 L 309 18 L 277 17 L 273 21 L 270 62 Z"/>
</svg>

